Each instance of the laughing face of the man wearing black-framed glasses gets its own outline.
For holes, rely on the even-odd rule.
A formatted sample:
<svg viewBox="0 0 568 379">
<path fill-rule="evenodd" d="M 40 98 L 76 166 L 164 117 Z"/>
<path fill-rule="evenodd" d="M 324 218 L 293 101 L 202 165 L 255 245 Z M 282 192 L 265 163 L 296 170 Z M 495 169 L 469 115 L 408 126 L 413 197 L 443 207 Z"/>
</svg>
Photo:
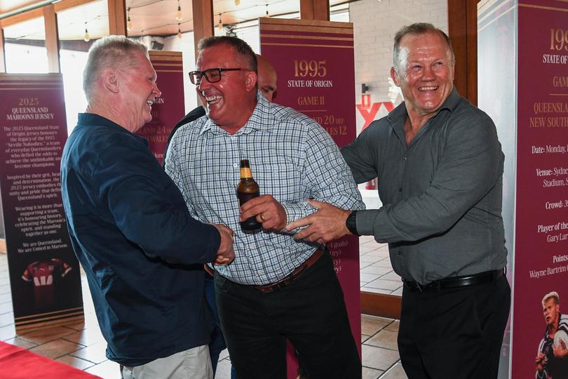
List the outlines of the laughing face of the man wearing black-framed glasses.
<svg viewBox="0 0 568 379">
<path fill-rule="evenodd" d="M 232 46 L 219 44 L 203 49 L 197 58 L 196 70 L 212 68 L 246 68 L 246 65 Z M 246 124 L 255 108 L 256 82 L 254 71 L 224 71 L 215 83 L 203 77 L 196 89 L 209 119 L 234 133 Z"/>
</svg>

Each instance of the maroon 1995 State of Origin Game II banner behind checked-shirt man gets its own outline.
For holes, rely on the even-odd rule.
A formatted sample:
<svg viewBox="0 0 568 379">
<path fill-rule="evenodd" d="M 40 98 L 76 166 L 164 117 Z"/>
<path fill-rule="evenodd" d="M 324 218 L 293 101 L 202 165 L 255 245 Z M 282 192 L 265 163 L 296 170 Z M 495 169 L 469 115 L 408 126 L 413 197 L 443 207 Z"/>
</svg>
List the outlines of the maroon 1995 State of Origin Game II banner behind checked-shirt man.
<svg viewBox="0 0 568 379">
<path fill-rule="evenodd" d="M 338 146 L 356 138 L 353 24 L 261 18 L 262 55 L 278 74 L 275 102 L 297 109 L 325 128 Z M 361 338 L 359 239 L 327 244 L 342 285 L 351 332 Z M 358 350 L 360 354 L 360 343 Z M 288 354 L 289 363 L 295 361 Z M 296 378 L 295 364 L 288 378 Z"/>
</svg>

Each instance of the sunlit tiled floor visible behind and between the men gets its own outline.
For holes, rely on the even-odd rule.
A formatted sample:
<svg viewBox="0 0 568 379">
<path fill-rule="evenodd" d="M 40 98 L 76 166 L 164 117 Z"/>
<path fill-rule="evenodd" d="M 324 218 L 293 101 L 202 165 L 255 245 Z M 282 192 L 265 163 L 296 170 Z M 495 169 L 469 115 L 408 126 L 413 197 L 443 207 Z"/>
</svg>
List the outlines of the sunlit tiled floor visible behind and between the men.
<svg viewBox="0 0 568 379">
<path fill-rule="evenodd" d="M 400 278 L 392 271 L 386 245 L 372 237 L 360 238 L 360 284 L 363 291 L 400 294 Z M 104 379 L 119 379 L 119 365 L 104 356 L 106 343 L 100 334 L 93 302 L 83 275 L 84 324 L 50 326 L 17 335 L 13 324 L 8 281 L 8 260 L 0 253 L 0 340 L 18 345 L 51 359 L 65 362 Z M 361 317 L 363 379 L 406 379 L 400 366 L 396 336 L 398 321 L 382 317 Z M 230 378 L 229 355 L 222 352 L 217 379 Z"/>
</svg>

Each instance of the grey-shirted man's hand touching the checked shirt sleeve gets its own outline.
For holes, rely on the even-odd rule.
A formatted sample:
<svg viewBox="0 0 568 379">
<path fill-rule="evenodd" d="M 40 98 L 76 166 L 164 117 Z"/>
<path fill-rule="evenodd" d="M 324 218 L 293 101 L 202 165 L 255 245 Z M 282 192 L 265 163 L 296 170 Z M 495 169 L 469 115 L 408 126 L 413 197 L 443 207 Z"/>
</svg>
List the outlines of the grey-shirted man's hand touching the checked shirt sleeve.
<svg viewBox="0 0 568 379">
<path fill-rule="evenodd" d="M 347 216 L 351 211 L 321 201 L 311 199 L 306 199 L 306 201 L 318 208 L 318 211 L 288 224 L 286 227 L 288 231 L 309 225 L 306 229 L 297 232 L 294 236 L 295 239 L 306 239 L 323 244 L 346 234 L 351 234 L 345 225 Z"/>
</svg>

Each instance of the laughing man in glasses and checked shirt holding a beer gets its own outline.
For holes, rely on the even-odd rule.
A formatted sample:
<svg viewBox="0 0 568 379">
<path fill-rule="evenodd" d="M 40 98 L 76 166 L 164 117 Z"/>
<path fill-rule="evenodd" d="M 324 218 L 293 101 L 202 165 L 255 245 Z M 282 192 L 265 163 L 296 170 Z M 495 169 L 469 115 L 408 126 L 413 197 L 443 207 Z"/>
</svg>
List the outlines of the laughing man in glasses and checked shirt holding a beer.
<svg viewBox="0 0 568 379">
<path fill-rule="evenodd" d="M 360 378 L 329 253 L 283 232 L 314 211 L 306 197 L 363 208 L 337 145 L 313 119 L 257 91 L 257 59 L 240 39 L 203 39 L 190 78 L 208 117 L 175 133 L 165 169 L 192 215 L 235 231 L 236 259 L 216 267 L 215 295 L 238 378 L 286 378 L 286 338 L 310 378 Z M 261 196 L 239 209 L 241 159 L 250 161 Z M 250 217 L 262 230 L 241 230 Z"/>
</svg>

